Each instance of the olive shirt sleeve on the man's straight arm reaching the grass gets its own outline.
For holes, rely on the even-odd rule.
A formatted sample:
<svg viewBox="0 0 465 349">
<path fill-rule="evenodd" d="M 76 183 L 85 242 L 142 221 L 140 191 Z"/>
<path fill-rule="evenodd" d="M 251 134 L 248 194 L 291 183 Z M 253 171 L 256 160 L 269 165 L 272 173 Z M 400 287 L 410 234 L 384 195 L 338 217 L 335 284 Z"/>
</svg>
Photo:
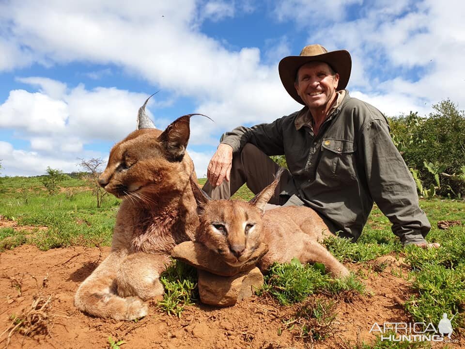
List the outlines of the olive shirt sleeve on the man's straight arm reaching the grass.
<svg viewBox="0 0 465 349">
<path fill-rule="evenodd" d="M 404 245 L 426 242 L 430 222 L 419 207 L 417 187 L 391 140 L 387 121 L 379 114 L 368 118 L 360 139 L 369 190 Z"/>
</svg>

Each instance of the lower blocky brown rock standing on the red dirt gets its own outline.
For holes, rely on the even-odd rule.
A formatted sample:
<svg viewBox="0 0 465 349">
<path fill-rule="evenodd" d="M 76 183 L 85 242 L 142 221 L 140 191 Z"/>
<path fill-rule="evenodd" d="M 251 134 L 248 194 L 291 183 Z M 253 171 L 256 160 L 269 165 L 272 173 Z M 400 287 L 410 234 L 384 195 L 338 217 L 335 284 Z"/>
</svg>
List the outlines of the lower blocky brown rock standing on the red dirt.
<svg viewBox="0 0 465 349">
<path fill-rule="evenodd" d="M 198 271 L 200 300 L 205 304 L 231 306 L 263 285 L 263 275 L 257 267 L 230 277 Z"/>
</svg>

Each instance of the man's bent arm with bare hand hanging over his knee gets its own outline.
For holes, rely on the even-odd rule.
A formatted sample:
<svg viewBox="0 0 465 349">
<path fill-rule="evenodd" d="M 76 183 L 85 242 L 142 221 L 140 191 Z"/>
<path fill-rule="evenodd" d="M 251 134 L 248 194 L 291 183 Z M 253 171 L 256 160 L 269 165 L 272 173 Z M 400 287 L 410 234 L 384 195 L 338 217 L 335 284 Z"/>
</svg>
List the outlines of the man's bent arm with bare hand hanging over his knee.
<svg viewBox="0 0 465 349">
<path fill-rule="evenodd" d="M 217 151 L 213 154 L 207 168 L 207 178 L 213 186 L 219 186 L 224 179 L 229 181 L 233 152 L 237 152 L 246 143 L 252 143 L 267 155 L 282 155 L 282 119 L 271 124 L 253 127 L 239 126 L 221 136 Z"/>
</svg>

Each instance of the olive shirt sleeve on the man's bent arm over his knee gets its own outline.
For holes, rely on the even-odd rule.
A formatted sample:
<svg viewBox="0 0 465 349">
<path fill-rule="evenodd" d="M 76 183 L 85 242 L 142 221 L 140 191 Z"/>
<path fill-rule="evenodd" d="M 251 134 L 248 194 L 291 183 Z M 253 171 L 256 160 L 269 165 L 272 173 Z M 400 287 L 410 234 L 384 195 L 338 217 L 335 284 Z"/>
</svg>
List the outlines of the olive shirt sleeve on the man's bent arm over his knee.
<svg viewBox="0 0 465 349">
<path fill-rule="evenodd" d="M 221 136 L 220 143 L 233 147 L 237 152 L 246 145 L 252 143 L 268 156 L 284 154 L 283 146 L 283 119 L 275 120 L 271 124 L 260 124 L 253 127 L 239 126 Z"/>
</svg>

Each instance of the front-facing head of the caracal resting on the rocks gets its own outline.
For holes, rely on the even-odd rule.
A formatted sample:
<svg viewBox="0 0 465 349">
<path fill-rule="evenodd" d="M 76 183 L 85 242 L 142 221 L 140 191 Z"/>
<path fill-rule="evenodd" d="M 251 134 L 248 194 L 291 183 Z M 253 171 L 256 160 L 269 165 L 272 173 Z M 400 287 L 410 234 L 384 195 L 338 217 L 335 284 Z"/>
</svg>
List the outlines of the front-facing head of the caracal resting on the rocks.
<svg viewBox="0 0 465 349">
<path fill-rule="evenodd" d="M 264 207 L 273 196 L 281 174 L 279 171 L 273 183 L 249 202 L 212 200 L 191 177 L 200 220 L 196 241 L 233 267 L 246 263 L 263 242 Z"/>
</svg>

